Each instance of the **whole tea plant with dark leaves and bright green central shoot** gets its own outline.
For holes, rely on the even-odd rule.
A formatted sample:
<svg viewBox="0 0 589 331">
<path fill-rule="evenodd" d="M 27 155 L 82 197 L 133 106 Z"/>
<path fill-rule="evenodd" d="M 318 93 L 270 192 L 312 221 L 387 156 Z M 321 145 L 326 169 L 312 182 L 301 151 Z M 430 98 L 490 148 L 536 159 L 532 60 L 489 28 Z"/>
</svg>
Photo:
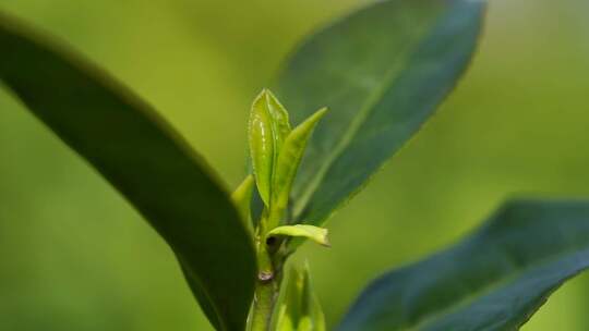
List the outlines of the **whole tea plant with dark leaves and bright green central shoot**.
<svg viewBox="0 0 589 331">
<path fill-rule="evenodd" d="M 325 330 L 309 269 L 288 257 L 304 240 L 329 245 L 324 222 L 456 85 L 484 10 L 381 1 L 312 35 L 273 86 L 285 106 L 266 89 L 254 100 L 252 171 L 232 194 L 148 105 L 7 15 L 0 81 L 169 244 L 215 329 Z M 589 203 L 510 201 L 454 247 L 377 278 L 336 329 L 514 330 L 587 267 Z"/>
</svg>

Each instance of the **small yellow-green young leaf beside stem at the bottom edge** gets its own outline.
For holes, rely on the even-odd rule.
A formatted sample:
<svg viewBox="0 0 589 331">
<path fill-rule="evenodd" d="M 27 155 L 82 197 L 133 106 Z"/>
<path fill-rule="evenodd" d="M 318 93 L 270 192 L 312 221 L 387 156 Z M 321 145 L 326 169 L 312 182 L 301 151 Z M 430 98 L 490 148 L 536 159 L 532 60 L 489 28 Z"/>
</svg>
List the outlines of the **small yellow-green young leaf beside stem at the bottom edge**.
<svg viewBox="0 0 589 331">
<path fill-rule="evenodd" d="M 290 269 L 274 322 L 277 331 L 325 331 L 325 317 L 311 286 L 309 267 Z"/>
</svg>

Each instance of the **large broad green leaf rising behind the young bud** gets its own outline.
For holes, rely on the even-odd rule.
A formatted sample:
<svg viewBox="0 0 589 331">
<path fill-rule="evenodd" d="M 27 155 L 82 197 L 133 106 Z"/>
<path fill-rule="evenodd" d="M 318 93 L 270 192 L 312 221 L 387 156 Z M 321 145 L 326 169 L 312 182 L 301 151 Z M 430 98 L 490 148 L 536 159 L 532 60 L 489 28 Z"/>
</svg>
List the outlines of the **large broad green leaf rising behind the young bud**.
<svg viewBox="0 0 589 331">
<path fill-rule="evenodd" d="M 336 22 L 298 48 L 275 90 L 293 123 L 330 111 L 293 184 L 297 220 L 321 223 L 434 113 L 466 70 L 481 0 L 388 0 Z"/>
</svg>

